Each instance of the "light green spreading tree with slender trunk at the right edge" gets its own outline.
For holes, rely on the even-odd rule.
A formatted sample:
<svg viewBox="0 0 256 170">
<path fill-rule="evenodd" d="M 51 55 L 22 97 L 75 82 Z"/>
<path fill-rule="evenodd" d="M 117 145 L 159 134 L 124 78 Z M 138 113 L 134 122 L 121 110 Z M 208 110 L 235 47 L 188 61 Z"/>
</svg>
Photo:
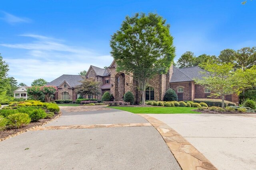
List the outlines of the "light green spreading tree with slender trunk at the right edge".
<svg viewBox="0 0 256 170">
<path fill-rule="evenodd" d="M 205 76 L 202 79 L 195 79 L 195 82 L 210 89 L 211 96 L 220 96 L 222 108 L 225 107 L 224 96 L 240 94 L 242 90 L 256 84 L 256 66 L 246 70 L 235 70 L 234 64 L 231 63 L 203 63 L 201 65 L 207 72 L 203 72 Z"/>
</svg>

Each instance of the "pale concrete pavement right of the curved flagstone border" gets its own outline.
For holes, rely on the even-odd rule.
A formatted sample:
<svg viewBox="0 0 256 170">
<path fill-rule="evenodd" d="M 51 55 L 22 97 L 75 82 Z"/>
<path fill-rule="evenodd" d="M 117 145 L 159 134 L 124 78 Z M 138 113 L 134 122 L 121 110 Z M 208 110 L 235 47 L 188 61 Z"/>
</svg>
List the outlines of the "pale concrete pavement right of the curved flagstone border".
<svg viewBox="0 0 256 170">
<path fill-rule="evenodd" d="M 148 115 L 180 133 L 218 169 L 256 169 L 256 115 Z"/>
</svg>

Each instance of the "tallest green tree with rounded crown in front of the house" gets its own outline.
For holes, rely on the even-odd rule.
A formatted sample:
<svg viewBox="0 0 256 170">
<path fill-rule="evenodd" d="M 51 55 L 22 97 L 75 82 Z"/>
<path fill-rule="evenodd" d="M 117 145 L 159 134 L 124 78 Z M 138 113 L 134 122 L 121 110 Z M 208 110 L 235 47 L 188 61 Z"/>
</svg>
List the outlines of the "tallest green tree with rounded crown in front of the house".
<svg viewBox="0 0 256 170">
<path fill-rule="evenodd" d="M 145 105 L 149 80 L 166 73 L 175 57 L 170 25 L 158 14 L 126 16 L 120 30 L 111 36 L 110 47 L 116 70 L 131 73 L 138 81 Z"/>
</svg>

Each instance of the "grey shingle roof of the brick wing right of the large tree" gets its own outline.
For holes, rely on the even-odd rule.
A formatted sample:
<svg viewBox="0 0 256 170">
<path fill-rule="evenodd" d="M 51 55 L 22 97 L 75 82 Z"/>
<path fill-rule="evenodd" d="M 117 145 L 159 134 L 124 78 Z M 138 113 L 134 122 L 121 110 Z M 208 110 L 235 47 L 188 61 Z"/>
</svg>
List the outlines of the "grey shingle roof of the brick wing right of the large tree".
<svg viewBox="0 0 256 170">
<path fill-rule="evenodd" d="M 192 66 L 192 67 L 185 67 L 185 68 L 176 68 L 173 66 L 173 74 L 171 77 L 170 82 L 186 82 L 186 81 L 193 81 L 194 78 L 201 79 L 204 77 L 204 74 L 201 74 L 200 72 L 205 72 L 198 66 Z"/>
</svg>

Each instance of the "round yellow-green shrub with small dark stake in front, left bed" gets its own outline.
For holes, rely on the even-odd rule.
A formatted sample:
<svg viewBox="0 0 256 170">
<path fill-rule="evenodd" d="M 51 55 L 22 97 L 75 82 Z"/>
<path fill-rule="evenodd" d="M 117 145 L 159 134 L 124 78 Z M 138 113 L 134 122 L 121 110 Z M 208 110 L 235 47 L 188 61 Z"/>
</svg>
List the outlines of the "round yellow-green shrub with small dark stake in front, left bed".
<svg viewBox="0 0 256 170">
<path fill-rule="evenodd" d="M 9 119 L 9 125 L 15 127 L 15 120 L 17 127 L 21 127 L 23 125 L 28 125 L 31 121 L 30 117 L 26 113 L 15 113 L 8 116 Z"/>
</svg>

